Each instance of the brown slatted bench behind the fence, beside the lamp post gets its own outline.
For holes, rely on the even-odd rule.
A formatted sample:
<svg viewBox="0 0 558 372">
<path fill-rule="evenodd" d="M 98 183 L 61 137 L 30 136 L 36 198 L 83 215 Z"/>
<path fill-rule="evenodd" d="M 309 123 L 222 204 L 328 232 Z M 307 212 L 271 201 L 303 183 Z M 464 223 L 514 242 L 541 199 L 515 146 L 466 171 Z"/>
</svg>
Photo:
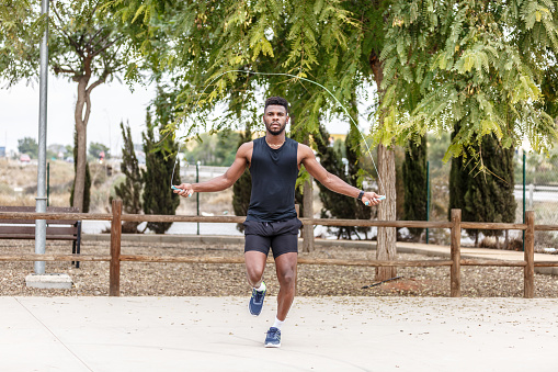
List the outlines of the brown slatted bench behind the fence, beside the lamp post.
<svg viewBox="0 0 558 372">
<path fill-rule="evenodd" d="M 34 213 L 34 206 L 3 206 L 0 212 L 7 213 Z M 79 213 L 77 207 L 47 206 L 47 213 Z M 0 219 L 0 239 L 35 239 L 34 219 Z M 72 240 L 71 252 L 79 255 L 81 249 L 81 221 L 77 219 L 47 219 L 47 240 Z M 79 268 L 79 261 L 71 262 Z"/>
</svg>

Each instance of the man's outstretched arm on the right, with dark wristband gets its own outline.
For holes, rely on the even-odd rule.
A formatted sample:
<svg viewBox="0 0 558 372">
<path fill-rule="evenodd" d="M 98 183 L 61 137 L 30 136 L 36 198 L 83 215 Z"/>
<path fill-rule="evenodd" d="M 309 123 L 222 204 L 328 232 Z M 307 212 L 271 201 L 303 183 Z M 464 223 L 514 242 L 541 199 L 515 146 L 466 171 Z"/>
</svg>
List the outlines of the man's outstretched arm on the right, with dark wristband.
<svg viewBox="0 0 558 372">
<path fill-rule="evenodd" d="M 341 180 L 339 177 L 331 174 L 323 168 L 318 160 L 316 160 L 316 156 L 310 147 L 299 144 L 298 151 L 300 151 L 301 160 L 300 162 L 305 166 L 308 173 L 310 173 L 316 180 L 318 180 L 321 184 L 328 188 L 331 191 L 337 193 L 348 195 L 351 198 L 358 198 L 361 193 L 360 189 L 350 185 L 349 183 Z M 379 204 L 379 195 L 375 192 L 365 192 L 362 202 L 367 205 L 378 205 Z"/>
</svg>

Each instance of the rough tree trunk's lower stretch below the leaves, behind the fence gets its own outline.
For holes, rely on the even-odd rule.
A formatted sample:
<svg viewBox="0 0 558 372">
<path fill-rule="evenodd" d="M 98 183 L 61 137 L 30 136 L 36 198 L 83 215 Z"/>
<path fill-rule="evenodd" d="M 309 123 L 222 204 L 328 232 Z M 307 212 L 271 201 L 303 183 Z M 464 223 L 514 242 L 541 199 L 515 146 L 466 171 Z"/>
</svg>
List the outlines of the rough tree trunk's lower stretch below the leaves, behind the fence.
<svg viewBox="0 0 558 372">
<path fill-rule="evenodd" d="M 386 195 L 378 205 L 379 221 L 396 221 L 396 157 L 392 150 L 383 145 L 378 145 L 378 171 L 382 182 L 379 182 L 379 193 Z M 378 228 L 378 248 L 376 258 L 378 260 L 395 260 L 397 230 L 395 227 Z M 395 267 L 376 268 L 376 281 L 387 280 L 397 277 Z"/>
</svg>

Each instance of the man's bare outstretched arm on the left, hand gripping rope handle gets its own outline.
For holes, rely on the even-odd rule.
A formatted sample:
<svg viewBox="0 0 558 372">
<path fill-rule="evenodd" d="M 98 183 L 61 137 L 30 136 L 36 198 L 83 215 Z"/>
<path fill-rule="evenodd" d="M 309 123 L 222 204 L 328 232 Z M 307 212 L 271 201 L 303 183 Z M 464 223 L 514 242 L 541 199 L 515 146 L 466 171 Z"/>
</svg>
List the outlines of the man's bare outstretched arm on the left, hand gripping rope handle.
<svg viewBox="0 0 558 372">
<path fill-rule="evenodd" d="M 229 169 L 227 169 L 225 174 L 206 182 L 182 183 L 176 187 L 180 190 L 174 190 L 174 193 L 181 196 L 192 196 L 194 192 L 214 192 L 230 188 L 232 183 L 235 183 L 244 172 L 244 169 L 248 166 L 249 154 L 252 148 L 253 145 L 251 142 L 242 144 L 242 146 L 238 148 L 235 161 Z"/>
</svg>

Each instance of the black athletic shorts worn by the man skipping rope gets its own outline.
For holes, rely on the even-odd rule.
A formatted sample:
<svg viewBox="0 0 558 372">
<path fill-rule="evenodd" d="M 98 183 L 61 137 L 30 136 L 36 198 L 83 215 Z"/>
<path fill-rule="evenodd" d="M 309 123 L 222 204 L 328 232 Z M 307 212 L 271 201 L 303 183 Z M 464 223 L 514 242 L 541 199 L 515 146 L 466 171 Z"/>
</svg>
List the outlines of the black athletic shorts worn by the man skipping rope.
<svg viewBox="0 0 558 372">
<path fill-rule="evenodd" d="M 298 218 L 259 222 L 244 221 L 244 252 L 255 250 L 267 256 L 270 247 L 273 258 L 283 253 L 298 253 L 298 230 L 303 223 Z"/>
</svg>

